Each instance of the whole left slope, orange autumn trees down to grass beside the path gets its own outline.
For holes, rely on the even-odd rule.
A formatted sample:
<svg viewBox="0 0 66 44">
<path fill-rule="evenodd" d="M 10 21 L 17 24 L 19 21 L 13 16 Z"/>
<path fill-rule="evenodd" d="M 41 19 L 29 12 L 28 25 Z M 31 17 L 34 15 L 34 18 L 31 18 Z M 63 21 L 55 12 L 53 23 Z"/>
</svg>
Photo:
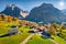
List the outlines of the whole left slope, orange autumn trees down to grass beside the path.
<svg viewBox="0 0 66 44">
<path fill-rule="evenodd" d="M 28 33 L 30 31 L 30 28 L 24 23 L 20 24 L 21 22 L 22 21 L 16 18 L 0 14 L 0 35 L 7 34 L 8 31 L 11 30 L 12 25 L 20 26 L 18 28 L 16 34 L 0 37 L 0 44 L 20 44 L 25 37 L 30 35 L 30 33 Z"/>
</svg>

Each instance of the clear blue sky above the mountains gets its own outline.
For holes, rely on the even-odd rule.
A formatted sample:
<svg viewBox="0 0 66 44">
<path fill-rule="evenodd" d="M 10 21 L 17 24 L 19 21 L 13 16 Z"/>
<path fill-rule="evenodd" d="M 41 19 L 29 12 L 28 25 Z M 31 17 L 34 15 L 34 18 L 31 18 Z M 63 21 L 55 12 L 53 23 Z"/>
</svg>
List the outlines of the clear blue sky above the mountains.
<svg viewBox="0 0 66 44">
<path fill-rule="evenodd" d="M 30 11 L 34 7 L 41 6 L 43 2 L 52 3 L 57 9 L 66 9 L 65 6 L 59 6 L 59 2 L 64 3 L 66 0 L 0 0 L 0 12 L 4 10 L 7 4 L 15 4 L 23 10 Z M 65 3 L 66 4 L 66 3 Z"/>
</svg>

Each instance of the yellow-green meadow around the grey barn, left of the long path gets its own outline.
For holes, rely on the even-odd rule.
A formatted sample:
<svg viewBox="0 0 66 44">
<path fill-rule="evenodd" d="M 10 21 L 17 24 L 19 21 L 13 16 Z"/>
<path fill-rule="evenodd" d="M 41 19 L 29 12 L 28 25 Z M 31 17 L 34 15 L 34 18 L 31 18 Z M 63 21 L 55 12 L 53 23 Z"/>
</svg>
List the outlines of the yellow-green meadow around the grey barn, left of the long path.
<svg viewBox="0 0 66 44">
<path fill-rule="evenodd" d="M 9 28 L 10 28 L 10 26 L 7 28 L 8 25 L 12 25 L 12 23 L 0 25 L 1 35 L 6 34 L 8 32 Z M 18 31 L 19 31 L 19 33 L 15 35 L 0 37 L 0 44 L 20 44 L 25 37 L 28 37 L 30 35 L 30 33 L 28 33 L 28 31 L 30 31 L 30 28 L 26 25 L 19 28 Z"/>
</svg>

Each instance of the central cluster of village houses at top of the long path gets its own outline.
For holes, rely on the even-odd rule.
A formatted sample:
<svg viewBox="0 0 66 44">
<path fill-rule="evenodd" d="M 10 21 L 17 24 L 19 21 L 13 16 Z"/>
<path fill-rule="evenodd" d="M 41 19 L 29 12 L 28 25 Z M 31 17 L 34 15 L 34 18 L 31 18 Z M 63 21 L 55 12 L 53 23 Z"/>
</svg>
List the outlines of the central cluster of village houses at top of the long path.
<svg viewBox="0 0 66 44">
<path fill-rule="evenodd" d="M 50 26 L 50 24 L 48 24 L 48 26 Z M 37 33 L 44 37 L 51 37 L 51 34 L 47 32 L 48 30 L 43 25 L 41 25 L 37 29 L 35 26 L 32 26 L 31 29 L 32 29 L 31 32 L 33 32 L 33 33 Z"/>
</svg>

